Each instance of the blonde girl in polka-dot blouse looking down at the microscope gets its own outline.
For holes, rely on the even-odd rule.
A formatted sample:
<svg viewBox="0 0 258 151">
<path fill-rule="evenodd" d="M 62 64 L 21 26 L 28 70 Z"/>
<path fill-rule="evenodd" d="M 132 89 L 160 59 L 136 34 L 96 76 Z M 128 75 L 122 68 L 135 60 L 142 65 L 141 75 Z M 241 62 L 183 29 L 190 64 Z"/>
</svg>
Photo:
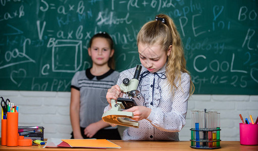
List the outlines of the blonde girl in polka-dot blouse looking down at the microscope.
<svg viewBox="0 0 258 151">
<path fill-rule="evenodd" d="M 142 65 L 138 86 L 141 98 L 135 98 L 138 106 L 125 111 L 133 112 L 139 128 L 126 129 L 123 139 L 178 141 L 194 86 L 173 20 L 160 14 L 144 24 L 138 33 L 137 45 Z M 107 93 L 109 103 L 122 97 L 119 85 L 124 78 L 132 78 L 134 71 L 135 68 L 130 68 L 120 73 L 117 85 Z M 107 106 L 105 111 L 110 108 Z"/>
</svg>

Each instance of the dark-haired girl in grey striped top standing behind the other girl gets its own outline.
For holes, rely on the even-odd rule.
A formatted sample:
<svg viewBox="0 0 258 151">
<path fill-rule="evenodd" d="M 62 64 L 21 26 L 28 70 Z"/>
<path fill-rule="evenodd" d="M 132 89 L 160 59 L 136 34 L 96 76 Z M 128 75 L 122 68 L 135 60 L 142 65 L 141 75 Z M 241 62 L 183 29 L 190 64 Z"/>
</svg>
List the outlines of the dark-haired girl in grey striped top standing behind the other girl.
<svg viewBox="0 0 258 151">
<path fill-rule="evenodd" d="M 117 83 L 113 40 L 106 32 L 95 34 L 88 54 L 92 67 L 75 73 L 71 82 L 70 119 L 72 138 L 121 139 L 117 127 L 102 119 L 107 106 L 106 93 Z"/>
</svg>

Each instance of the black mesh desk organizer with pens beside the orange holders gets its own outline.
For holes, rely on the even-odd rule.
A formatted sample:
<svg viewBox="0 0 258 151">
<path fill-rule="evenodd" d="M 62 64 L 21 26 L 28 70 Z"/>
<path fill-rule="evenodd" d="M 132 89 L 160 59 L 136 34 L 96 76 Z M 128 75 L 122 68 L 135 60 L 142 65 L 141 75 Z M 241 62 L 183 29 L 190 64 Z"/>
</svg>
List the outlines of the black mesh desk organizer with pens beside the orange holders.
<svg viewBox="0 0 258 151">
<path fill-rule="evenodd" d="M 44 127 L 42 126 L 19 126 L 18 133 L 24 136 L 24 139 L 44 141 Z"/>
</svg>

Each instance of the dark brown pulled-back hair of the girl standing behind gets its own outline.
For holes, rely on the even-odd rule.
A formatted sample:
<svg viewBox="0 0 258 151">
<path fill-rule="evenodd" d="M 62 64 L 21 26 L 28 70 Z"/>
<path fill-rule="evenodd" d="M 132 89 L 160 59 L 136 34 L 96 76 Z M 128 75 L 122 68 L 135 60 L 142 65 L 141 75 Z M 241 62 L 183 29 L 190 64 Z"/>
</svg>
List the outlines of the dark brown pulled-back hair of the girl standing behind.
<svg viewBox="0 0 258 151">
<path fill-rule="evenodd" d="M 114 42 L 112 40 L 112 38 L 110 37 L 110 35 L 106 32 L 102 32 L 102 33 L 97 33 L 95 34 L 93 37 L 91 37 L 90 41 L 89 41 L 89 47 L 91 47 L 91 44 L 92 44 L 92 41 L 95 39 L 95 38 L 105 38 L 107 39 L 107 41 L 109 42 L 109 45 L 110 45 L 110 49 L 114 49 Z M 109 61 L 108 61 L 108 65 L 110 68 L 112 69 L 115 69 L 115 59 L 114 59 L 114 55 L 109 58 Z"/>
</svg>

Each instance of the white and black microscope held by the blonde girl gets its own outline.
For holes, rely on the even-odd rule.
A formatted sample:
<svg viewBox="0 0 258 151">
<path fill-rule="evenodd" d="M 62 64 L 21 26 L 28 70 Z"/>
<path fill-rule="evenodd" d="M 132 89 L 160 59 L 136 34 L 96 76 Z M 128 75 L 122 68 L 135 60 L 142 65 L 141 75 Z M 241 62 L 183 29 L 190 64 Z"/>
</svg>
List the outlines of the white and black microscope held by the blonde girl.
<svg viewBox="0 0 258 151">
<path fill-rule="evenodd" d="M 116 124 L 116 125 L 122 125 L 122 126 L 131 126 L 131 127 L 139 127 L 139 122 L 137 121 L 129 121 L 125 120 L 124 118 L 133 118 L 132 112 L 124 112 L 123 109 L 129 109 L 133 106 L 136 106 L 135 101 L 133 98 L 140 99 L 140 92 L 137 90 L 138 84 L 139 84 L 139 75 L 141 72 L 141 65 L 137 65 L 134 77 L 132 80 L 129 80 L 128 78 L 125 78 L 123 80 L 123 84 L 121 84 L 119 87 L 121 89 L 121 92 L 124 94 L 127 94 L 129 99 L 126 98 L 118 98 L 116 100 L 111 100 L 111 106 L 112 108 L 105 112 L 102 115 L 102 119 L 110 124 Z"/>
</svg>

